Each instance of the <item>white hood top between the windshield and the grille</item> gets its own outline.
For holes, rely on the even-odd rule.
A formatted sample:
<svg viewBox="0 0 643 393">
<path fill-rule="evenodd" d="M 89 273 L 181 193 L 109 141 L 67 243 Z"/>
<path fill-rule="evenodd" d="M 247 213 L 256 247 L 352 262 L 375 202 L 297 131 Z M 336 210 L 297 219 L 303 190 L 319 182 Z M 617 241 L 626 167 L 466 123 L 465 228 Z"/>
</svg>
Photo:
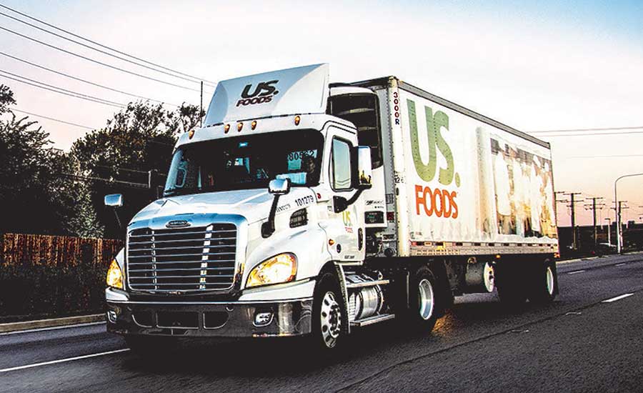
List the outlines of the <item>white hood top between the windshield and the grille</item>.
<svg viewBox="0 0 643 393">
<path fill-rule="evenodd" d="M 142 209 L 130 224 L 143 224 L 161 217 L 189 219 L 191 215 L 239 214 L 249 224 L 268 218 L 274 195 L 266 189 L 208 192 L 181 195 L 156 200 Z M 293 187 L 289 194 L 279 197 L 277 215 L 304 207 L 316 201 L 315 194 L 307 187 Z M 299 203 L 298 203 L 299 202 Z"/>
</svg>

